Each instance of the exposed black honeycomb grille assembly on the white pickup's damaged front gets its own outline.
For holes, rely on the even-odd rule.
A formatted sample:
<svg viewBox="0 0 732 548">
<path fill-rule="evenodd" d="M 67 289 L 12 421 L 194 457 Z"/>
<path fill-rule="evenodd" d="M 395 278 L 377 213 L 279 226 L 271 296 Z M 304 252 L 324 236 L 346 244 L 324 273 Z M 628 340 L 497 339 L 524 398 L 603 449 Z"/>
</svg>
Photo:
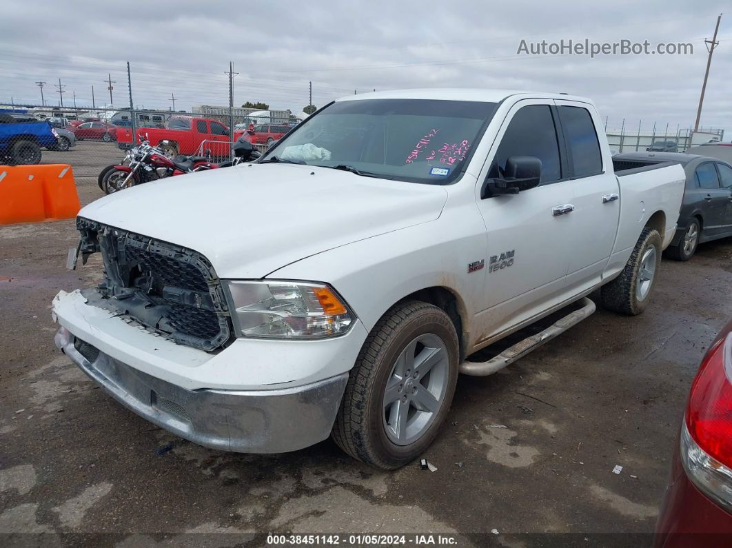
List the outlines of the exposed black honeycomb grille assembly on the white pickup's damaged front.
<svg viewBox="0 0 732 548">
<path fill-rule="evenodd" d="M 102 252 L 102 306 L 168 339 L 201 350 L 231 340 L 220 279 L 193 249 L 78 217 L 81 249 Z"/>
</svg>

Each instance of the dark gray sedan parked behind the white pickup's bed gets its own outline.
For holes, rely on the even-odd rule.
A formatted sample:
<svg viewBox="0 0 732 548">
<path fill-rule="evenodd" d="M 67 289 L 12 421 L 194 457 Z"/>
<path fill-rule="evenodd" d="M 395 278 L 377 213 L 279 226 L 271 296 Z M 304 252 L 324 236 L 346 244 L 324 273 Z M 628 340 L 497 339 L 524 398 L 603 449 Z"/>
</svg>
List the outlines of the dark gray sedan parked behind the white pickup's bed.
<svg viewBox="0 0 732 548">
<path fill-rule="evenodd" d="M 618 154 L 613 157 L 617 159 L 665 160 L 684 167 L 684 200 L 676 234 L 666 249 L 671 258 L 689 260 L 698 244 L 732 236 L 732 165 L 708 156 L 673 152 Z"/>
</svg>

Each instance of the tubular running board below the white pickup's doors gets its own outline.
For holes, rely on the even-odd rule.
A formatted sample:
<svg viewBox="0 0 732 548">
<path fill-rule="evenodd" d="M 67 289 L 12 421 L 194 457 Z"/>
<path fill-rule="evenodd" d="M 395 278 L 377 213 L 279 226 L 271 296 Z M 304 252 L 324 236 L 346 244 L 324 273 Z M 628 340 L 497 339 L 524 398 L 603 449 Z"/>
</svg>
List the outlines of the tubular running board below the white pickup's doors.
<svg viewBox="0 0 732 548">
<path fill-rule="evenodd" d="M 531 350 L 536 350 L 539 346 L 545 342 L 553 339 L 557 335 L 564 333 L 572 326 L 577 325 L 580 321 L 589 318 L 595 311 L 595 304 L 590 299 L 585 297 L 582 299 L 583 307 L 570 312 L 564 318 L 557 320 L 551 326 L 544 331 L 526 337 L 522 341 L 517 342 L 515 345 L 507 348 L 498 356 L 491 358 L 488 361 L 463 361 L 460 364 L 460 372 L 463 375 L 474 375 L 477 377 L 485 377 L 487 375 L 493 375 L 496 371 L 499 371 L 519 358 L 526 356 Z"/>
</svg>

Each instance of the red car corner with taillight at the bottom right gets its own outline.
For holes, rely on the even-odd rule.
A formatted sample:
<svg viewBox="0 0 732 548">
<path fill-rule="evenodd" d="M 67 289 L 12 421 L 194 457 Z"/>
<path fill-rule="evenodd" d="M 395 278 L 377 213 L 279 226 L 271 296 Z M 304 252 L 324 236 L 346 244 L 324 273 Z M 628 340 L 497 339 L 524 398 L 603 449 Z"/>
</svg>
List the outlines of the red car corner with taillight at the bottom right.
<svg viewBox="0 0 732 548">
<path fill-rule="evenodd" d="M 732 322 L 691 386 L 654 546 L 732 546 Z"/>
</svg>

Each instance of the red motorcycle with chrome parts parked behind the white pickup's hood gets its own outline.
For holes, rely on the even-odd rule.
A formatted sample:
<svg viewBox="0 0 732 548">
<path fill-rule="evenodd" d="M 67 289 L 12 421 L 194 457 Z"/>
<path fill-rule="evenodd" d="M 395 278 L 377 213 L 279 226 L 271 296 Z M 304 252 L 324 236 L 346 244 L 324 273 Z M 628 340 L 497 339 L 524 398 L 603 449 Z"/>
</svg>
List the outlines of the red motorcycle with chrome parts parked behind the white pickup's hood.
<svg viewBox="0 0 732 548">
<path fill-rule="evenodd" d="M 209 157 L 181 155 L 168 158 L 162 150 L 145 140 L 128 150 L 122 163 L 104 168 L 97 182 L 105 194 L 112 194 L 136 184 L 218 167 Z"/>
</svg>

